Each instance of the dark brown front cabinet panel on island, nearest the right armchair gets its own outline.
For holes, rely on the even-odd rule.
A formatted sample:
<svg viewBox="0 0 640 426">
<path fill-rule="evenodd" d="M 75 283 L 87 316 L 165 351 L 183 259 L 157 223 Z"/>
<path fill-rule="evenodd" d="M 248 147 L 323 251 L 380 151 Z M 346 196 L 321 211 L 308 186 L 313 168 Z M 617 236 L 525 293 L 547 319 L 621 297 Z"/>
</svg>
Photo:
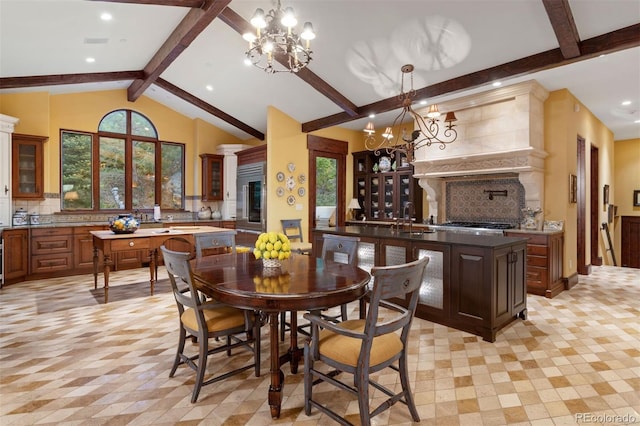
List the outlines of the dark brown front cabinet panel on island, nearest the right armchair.
<svg viewBox="0 0 640 426">
<path fill-rule="evenodd" d="M 490 340 L 491 298 L 494 292 L 502 291 L 492 289 L 491 257 L 492 250 L 482 247 L 451 249 L 451 320 L 457 328 L 480 334 L 486 340 Z"/>
</svg>

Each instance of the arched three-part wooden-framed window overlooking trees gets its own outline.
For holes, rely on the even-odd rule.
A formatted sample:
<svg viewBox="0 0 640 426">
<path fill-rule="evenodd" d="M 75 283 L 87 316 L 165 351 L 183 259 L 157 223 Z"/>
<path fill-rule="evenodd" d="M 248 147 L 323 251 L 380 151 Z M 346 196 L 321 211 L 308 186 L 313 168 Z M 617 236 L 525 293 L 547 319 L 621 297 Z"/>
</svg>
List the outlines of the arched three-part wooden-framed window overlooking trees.
<svg viewBox="0 0 640 426">
<path fill-rule="evenodd" d="M 184 144 L 162 142 L 144 115 L 116 110 L 98 133 L 61 131 L 62 210 L 184 209 Z"/>
</svg>

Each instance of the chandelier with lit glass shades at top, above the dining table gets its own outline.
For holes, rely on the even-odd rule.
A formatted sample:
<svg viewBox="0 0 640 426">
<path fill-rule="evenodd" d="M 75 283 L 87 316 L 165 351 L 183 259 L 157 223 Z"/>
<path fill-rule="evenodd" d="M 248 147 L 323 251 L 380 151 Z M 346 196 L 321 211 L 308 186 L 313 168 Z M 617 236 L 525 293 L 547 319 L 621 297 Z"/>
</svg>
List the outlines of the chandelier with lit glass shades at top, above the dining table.
<svg viewBox="0 0 640 426">
<path fill-rule="evenodd" d="M 293 8 L 282 10 L 280 0 L 276 9 L 265 15 L 256 9 L 251 18 L 255 33 L 245 33 L 242 38 L 249 42 L 245 62 L 265 70 L 269 74 L 277 72 L 298 72 L 311 61 L 311 40 L 316 38 L 311 22 L 305 22 L 302 33 L 297 35 L 298 24 Z"/>
</svg>

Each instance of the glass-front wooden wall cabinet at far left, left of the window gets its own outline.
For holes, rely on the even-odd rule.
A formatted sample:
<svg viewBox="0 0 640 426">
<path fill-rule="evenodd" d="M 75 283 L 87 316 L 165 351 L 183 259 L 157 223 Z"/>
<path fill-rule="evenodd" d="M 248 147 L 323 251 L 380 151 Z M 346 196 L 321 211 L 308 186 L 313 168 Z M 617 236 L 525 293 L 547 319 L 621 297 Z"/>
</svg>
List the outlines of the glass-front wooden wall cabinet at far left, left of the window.
<svg viewBox="0 0 640 426">
<path fill-rule="evenodd" d="M 12 197 L 44 198 L 42 145 L 47 138 L 14 133 L 12 139 Z"/>
</svg>

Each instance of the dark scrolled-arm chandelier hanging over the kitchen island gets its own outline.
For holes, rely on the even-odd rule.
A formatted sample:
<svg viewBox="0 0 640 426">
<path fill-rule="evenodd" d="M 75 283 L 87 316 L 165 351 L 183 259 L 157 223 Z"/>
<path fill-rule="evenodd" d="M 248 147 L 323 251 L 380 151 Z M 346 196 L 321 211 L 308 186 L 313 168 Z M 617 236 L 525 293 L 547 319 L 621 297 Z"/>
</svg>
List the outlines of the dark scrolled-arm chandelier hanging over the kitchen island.
<svg viewBox="0 0 640 426">
<path fill-rule="evenodd" d="M 438 144 L 440 149 L 445 149 L 447 144 L 454 142 L 458 137 L 458 132 L 454 129 L 456 121 L 456 115 L 453 112 L 448 112 L 445 116 L 444 123 L 440 123 L 438 118 L 440 117 L 440 111 L 438 105 L 430 105 L 427 110 L 426 117 L 418 114 L 413 110 L 411 104 L 415 97 L 415 90 L 413 89 L 413 65 L 407 64 L 400 68 L 402 71 L 402 81 L 400 83 L 400 94 L 398 98 L 402 101 L 402 111 L 393 120 L 390 127 L 387 127 L 382 133 L 381 138 L 378 139 L 375 136 L 375 127 L 373 122 L 367 123 L 364 128 L 367 136 L 365 137 L 365 147 L 369 151 L 374 151 L 376 155 L 380 155 L 380 151 L 384 150 L 387 154 L 393 154 L 396 151 L 401 151 L 407 157 L 408 162 L 413 162 L 415 159 L 415 150 L 422 148 L 423 146 L 431 146 L 431 144 Z M 404 91 L 404 79 L 409 74 L 411 88 Z M 407 114 L 409 117 L 407 117 Z M 417 129 L 413 130 L 411 134 L 406 134 L 402 129 L 402 134 L 393 135 L 393 129 L 396 125 L 404 123 L 405 118 L 413 118 L 414 126 Z M 442 132 L 441 132 L 442 131 Z"/>
</svg>

